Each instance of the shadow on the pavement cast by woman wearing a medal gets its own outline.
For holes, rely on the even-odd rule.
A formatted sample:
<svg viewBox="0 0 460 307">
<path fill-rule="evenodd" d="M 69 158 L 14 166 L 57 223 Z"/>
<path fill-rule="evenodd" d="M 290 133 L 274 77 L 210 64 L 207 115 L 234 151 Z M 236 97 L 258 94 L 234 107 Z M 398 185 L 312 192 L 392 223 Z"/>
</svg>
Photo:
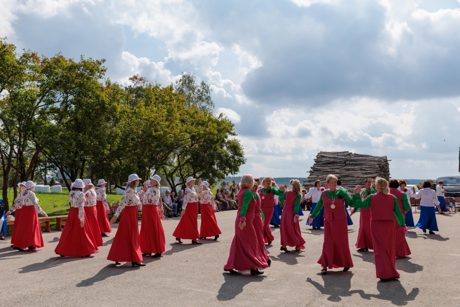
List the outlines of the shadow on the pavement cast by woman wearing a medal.
<svg viewBox="0 0 460 307">
<path fill-rule="evenodd" d="M 344 296 L 351 296 L 358 293 L 362 298 L 370 299 L 363 290 L 351 290 L 351 278 L 353 273 L 349 272 L 328 272 L 328 275 L 320 275 L 324 282 L 324 286 L 316 281 L 307 278 L 307 282 L 312 284 L 318 291 L 324 295 L 329 295 L 328 301 L 338 302 Z"/>
</svg>

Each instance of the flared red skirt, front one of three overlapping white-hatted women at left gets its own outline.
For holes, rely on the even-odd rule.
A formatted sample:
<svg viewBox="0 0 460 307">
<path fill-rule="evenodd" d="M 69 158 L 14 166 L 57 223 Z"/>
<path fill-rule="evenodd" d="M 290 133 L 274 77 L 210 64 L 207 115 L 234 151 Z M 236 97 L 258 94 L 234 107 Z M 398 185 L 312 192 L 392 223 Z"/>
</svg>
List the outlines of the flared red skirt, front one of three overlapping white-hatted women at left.
<svg viewBox="0 0 460 307">
<path fill-rule="evenodd" d="M 56 249 L 54 249 L 57 255 L 83 257 L 96 253 L 98 247 L 93 241 L 85 209 L 83 209 L 83 217 L 85 226 L 81 227 L 81 221 L 78 218 L 78 208 L 70 207 L 69 217 L 65 222 L 59 243 L 57 243 Z"/>
</svg>

